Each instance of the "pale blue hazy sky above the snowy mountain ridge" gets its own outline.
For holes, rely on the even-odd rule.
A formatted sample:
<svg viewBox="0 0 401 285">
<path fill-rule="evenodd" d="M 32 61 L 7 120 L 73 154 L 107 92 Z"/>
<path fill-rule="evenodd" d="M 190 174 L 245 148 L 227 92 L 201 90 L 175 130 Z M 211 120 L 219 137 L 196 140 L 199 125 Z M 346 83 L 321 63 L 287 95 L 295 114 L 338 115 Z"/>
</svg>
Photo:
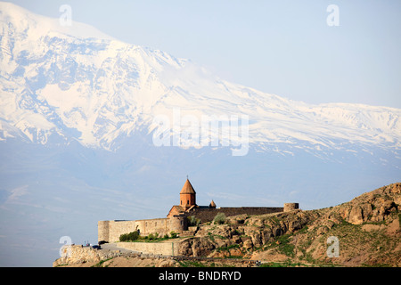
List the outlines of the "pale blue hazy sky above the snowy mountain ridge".
<svg viewBox="0 0 401 285">
<path fill-rule="evenodd" d="M 401 108 L 399 0 L 11 2 L 53 18 L 69 4 L 72 20 L 266 93 Z"/>
</svg>

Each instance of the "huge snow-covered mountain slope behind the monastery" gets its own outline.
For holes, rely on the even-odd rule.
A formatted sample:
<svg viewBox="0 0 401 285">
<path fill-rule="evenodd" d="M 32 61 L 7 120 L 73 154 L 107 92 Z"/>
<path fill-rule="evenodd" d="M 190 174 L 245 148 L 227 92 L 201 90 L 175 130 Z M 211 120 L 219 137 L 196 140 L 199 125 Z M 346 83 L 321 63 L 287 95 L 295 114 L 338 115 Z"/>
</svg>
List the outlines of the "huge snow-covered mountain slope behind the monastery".
<svg viewBox="0 0 401 285">
<path fill-rule="evenodd" d="M 155 116 L 248 116 L 250 145 L 264 150 L 401 146 L 401 110 L 311 105 L 226 82 L 189 60 L 128 45 L 84 24 L 0 4 L 0 138 L 115 150 Z M 222 132 L 225 134 L 225 132 Z M 345 146 L 347 145 L 347 146 Z"/>
</svg>

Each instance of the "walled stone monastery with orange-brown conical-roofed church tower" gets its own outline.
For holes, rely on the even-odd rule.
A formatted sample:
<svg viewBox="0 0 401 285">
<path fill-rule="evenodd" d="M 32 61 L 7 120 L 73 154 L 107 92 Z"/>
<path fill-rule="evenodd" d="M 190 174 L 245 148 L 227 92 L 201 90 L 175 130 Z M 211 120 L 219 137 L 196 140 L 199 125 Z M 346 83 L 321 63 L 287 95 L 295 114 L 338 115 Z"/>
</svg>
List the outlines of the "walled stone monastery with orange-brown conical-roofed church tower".
<svg viewBox="0 0 401 285">
<path fill-rule="evenodd" d="M 180 191 L 180 204 L 173 206 L 165 218 L 147 220 L 114 220 L 98 222 L 98 241 L 115 242 L 123 233 L 138 231 L 140 235 L 146 236 L 158 232 L 161 235 L 176 232 L 180 235 L 188 233 L 188 217 L 194 216 L 201 223 L 212 221 L 217 213 L 225 216 L 236 216 L 241 214 L 263 215 L 277 212 L 286 212 L 299 208 L 298 203 L 285 203 L 283 208 L 267 207 L 241 207 L 241 208 L 217 208 L 212 200 L 209 206 L 198 206 L 196 204 L 196 192 L 187 179 L 183 189 Z"/>
</svg>

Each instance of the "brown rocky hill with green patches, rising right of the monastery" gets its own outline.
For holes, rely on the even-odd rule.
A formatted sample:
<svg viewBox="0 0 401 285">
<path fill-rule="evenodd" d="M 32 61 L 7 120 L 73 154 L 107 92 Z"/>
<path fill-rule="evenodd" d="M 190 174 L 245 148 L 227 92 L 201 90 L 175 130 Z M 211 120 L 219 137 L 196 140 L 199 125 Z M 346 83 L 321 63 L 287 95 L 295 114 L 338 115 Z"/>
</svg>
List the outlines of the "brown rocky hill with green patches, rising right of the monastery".
<svg viewBox="0 0 401 285">
<path fill-rule="evenodd" d="M 284 266 L 401 266 L 400 207 L 401 183 L 393 183 L 336 207 L 230 216 L 225 224 L 201 224 L 193 236 L 180 241 L 178 255 L 251 259 Z M 332 245 L 329 237 L 338 239 L 338 256 L 327 253 Z M 131 263 L 127 258 L 124 261 L 120 264 L 115 259 L 114 265 L 146 264 L 137 257 Z M 159 261 L 151 265 L 184 264 Z"/>
</svg>

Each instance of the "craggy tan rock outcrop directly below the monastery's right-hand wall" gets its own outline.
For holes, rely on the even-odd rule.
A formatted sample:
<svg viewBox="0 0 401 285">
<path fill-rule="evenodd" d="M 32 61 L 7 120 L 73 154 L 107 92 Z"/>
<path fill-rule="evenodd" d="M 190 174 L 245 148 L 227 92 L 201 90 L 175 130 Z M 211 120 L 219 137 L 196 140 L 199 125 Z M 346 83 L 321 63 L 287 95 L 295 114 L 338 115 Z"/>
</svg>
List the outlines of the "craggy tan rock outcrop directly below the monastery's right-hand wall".
<svg viewBox="0 0 401 285">
<path fill-rule="evenodd" d="M 299 209 L 261 216 L 232 216 L 228 224 L 201 225 L 195 237 L 182 240 L 179 255 L 242 256 L 251 248 L 260 248 L 283 234 L 299 231 L 312 218 L 313 213 Z M 235 250 L 233 250 L 235 248 Z"/>
</svg>

